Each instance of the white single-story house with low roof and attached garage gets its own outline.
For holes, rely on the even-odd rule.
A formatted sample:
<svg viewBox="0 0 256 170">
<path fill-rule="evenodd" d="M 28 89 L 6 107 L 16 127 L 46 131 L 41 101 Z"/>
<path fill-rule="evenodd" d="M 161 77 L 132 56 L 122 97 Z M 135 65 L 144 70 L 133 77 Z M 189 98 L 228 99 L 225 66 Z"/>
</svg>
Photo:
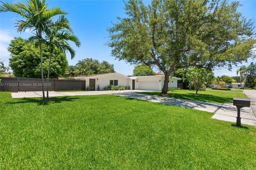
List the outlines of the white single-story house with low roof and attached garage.
<svg viewBox="0 0 256 170">
<path fill-rule="evenodd" d="M 139 77 L 127 77 L 120 73 L 106 73 L 95 75 L 83 75 L 74 77 L 76 80 L 85 80 L 85 87 L 89 87 L 90 90 L 97 90 L 98 86 L 100 90 L 109 85 L 114 86 L 130 86 L 131 90 L 157 90 L 161 91 L 164 84 L 164 75 L 149 75 Z M 177 88 L 177 81 L 180 78 L 170 78 L 169 87 Z"/>
</svg>

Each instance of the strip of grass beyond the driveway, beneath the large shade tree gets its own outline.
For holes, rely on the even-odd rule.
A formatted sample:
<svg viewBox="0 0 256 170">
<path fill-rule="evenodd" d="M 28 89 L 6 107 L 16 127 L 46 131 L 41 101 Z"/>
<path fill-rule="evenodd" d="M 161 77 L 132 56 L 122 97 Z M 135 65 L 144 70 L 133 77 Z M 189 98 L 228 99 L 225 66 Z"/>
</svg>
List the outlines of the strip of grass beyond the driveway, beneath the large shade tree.
<svg viewBox="0 0 256 170">
<path fill-rule="evenodd" d="M 206 91 L 198 91 L 196 95 L 195 90 L 171 90 L 168 94 L 161 94 L 161 91 L 147 91 L 147 92 L 138 92 L 139 94 L 146 95 L 157 95 L 164 97 L 174 97 L 180 99 L 188 99 L 188 100 L 199 100 L 199 101 L 207 101 L 210 103 L 226 103 L 233 102 L 234 97 L 243 97 L 246 98 L 246 95 L 241 92 L 233 92 L 231 91 L 221 91 L 221 90 L 206 90 Z"/>
</svg>

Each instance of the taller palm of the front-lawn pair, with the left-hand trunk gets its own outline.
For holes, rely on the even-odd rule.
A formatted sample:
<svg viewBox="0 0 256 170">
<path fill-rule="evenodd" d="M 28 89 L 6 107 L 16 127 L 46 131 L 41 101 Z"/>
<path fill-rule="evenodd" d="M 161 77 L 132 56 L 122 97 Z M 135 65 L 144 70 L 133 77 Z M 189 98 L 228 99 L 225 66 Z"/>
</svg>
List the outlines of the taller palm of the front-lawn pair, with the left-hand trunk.
<svg viewBox="0 0 256 170">
<path fill-rule="evenodd" d="M 42 91 L 43 100 L 44 95 L 44 74 L 43 74 L 43 57 L 42 57 L 42 43 L 44 41 L 44 33 L 52 24 L 52 18 L 56 15 L 67 14 L 62 11 L 60 7 L 47 9 L 45 0 L 29 0 L 25 4 L 17 2 L 15 4 L 4 3 L 0 5 L 0 12 L 14 12 L 19 14 L 25 20 L 17 20 L 17 30 L 19 32 L 29 29 L 34 33 L 39 47 L 39 54 L 41 59 L 41 77 L 42 77 Z"/>
</svg>

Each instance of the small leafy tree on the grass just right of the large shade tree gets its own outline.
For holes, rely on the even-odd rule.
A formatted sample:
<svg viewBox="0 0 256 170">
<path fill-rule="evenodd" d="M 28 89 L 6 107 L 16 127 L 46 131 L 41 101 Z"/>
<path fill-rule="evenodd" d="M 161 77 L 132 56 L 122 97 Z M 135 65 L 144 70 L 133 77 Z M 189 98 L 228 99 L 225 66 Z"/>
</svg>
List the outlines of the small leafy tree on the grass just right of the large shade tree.
<svg viewBox="0 0 256 170">
<path fill-rule="evenodd" d="M 204 84 L 211 82 L 214 78 L 213 72 L 206 69 L 189 69 L 187 74 L 196 94 Z"/>
</svg>

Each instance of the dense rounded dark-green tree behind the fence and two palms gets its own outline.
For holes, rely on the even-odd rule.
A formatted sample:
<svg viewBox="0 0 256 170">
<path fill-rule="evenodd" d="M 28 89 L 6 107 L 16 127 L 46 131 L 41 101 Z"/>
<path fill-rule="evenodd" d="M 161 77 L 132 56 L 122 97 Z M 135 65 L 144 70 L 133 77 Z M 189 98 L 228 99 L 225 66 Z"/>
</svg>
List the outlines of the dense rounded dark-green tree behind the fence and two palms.
<svg viewBox="0 0 256 170">
<path fill-rule="evenodd" d="M 22 38 L 14 38 L 8 48 L 11 53 L 10 67 L 15 77 L 41 78 L 41 66 L 39 49 L 35 43 Z M 50 48 L 43 45 L 43 71 L 44 78 L 47 75 Z M 65 74 L 68 66 L 66 55 L 57 49 L 53 50 L 50 78 L 58 78 Z"/>
</svg>

